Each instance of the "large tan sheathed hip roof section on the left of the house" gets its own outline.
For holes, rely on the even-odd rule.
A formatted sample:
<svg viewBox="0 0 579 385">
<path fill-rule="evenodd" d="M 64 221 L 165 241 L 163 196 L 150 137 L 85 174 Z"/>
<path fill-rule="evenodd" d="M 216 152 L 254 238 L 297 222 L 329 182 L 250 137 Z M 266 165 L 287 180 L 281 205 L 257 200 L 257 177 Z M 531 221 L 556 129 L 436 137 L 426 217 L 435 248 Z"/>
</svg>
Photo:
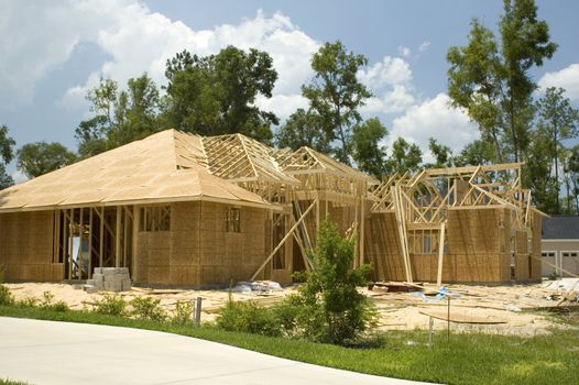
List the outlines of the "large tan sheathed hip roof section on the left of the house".
<svg viewBox="0 0 579 385">
<path fill-rule="evenodd" d="M 269 206 L 214 176 L 201 139 L 166 130 L 0 191 L 0 211 L 215 200 Z"/>
</svg>

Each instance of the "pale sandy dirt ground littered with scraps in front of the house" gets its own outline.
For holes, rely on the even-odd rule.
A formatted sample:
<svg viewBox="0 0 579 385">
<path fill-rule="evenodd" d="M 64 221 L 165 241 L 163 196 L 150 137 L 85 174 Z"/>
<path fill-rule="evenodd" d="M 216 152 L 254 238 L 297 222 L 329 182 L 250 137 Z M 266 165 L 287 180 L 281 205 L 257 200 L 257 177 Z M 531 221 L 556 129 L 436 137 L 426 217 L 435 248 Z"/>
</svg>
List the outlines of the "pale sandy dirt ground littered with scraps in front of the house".
<svg viewBox="0 0 579 385">
<path fill-rule="evenodd" d="M 568 284 L 568 283 L 567 283 Z M 103 292 L 87 294 L 81 288 L 68 284 L 21 283 L 4 284 L 19 300 L 34 297 L 43 298 L 45 292 L 54 295 L 53 300 L 64 300 L 72 309 L 90 308 L 90 304 L 101 298 Z M 447 285 L 452 293 L 450 314 L 452 330 L 484 331 L 490 333 L 517 334 L 532 337 L 548 333 L 549 328 L 564 328 L 561 323 L 546 316 L 544 308 L 577 306 L 577 293 L 565 290 L 557 282 L 544 282 L 529 285 L 482 286 L 482 285 Z M 567 285 L 569 286 L 569 285 Z M 428 329 L 429 316 L 423 314 L 447 315 L 448 300 L 437 299 L 439 289 L 436 285 L 425 284 L 423 290 L 414 293 L 391 293 L 382 286 L 372 290 L 363 289 L 376 305 L 380 314 L 380 328 L 383 330 Z M 579 288 L 579 280 L 577 283 Z M 295 293 L 297 286 L 285 287 L 282 290 L 269 293 L 233 293 L 234 300 L 254 300 L 263 305 L 281 301 L 283 297 Z M 413 289 L 414 290 L 414 289 Z M 569 295 L 571 293 L 571 295 Z M 161 299 L 161 305 L 171 312 L 178 300 L 195 300 L 203 298 L 203 321 L 211 321 L 217 310 L 228 300 L 228 290 L 183 290 L 152 289 L 134 287 L 120 294 L 127 301 L 136 296 L 152 296 Z M 568 297 L 568 298 L 566 298 Z M 536 311 L 527 311 L 536 310 Z M 447 328 L 446 316 L 434 318 L 434 329 Z M 477 322 L 477 323 L 472 323 Z"/>
</svg>

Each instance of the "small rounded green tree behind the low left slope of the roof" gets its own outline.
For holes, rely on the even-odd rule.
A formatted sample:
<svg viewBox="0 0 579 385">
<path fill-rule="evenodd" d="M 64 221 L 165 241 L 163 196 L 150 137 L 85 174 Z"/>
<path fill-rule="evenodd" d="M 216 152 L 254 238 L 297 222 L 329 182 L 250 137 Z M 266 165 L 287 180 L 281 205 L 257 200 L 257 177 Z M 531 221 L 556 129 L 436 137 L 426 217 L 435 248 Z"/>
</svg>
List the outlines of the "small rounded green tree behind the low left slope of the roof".
<svg viewBox="0 0 579 385">
<path fill-rule="evenodd" d="M 17 167 L 29 178 L 35 178 L 72 164 L 76 155 L 61 143 L 36 142 L 24 144 L 17 152 Z"/>
</svg>

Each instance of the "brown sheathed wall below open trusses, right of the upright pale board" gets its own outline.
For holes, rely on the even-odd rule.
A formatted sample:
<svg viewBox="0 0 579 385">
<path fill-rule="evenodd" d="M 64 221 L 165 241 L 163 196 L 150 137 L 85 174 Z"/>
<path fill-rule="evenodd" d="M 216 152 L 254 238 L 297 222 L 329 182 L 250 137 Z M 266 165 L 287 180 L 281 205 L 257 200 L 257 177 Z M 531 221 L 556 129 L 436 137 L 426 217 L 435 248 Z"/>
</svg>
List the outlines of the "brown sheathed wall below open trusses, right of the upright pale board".
<svg viewBox="0 0 579 385">
<path fill-rule="evenodd" d="M 454 263 L 455 274 L 448 280 L 511 280 L 510 229 L 504 208 L 449 209 L 445 257 Z"/>
</svg>

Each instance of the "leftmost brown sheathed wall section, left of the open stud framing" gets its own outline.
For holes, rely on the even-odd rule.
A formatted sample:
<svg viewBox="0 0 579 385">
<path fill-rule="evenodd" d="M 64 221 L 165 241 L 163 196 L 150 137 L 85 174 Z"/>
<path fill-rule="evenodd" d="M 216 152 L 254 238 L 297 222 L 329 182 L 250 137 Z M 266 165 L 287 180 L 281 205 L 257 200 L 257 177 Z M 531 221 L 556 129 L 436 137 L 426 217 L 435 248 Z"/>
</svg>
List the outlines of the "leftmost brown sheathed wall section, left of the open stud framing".
<svg viewBox="0 0 579 385">
<path fill-rule="evenodd" d="M 63 280 L 63 264 L 53 263 L 53 211 L 0 215 L 0 266 L 6 280 Z"/>
</svg>

